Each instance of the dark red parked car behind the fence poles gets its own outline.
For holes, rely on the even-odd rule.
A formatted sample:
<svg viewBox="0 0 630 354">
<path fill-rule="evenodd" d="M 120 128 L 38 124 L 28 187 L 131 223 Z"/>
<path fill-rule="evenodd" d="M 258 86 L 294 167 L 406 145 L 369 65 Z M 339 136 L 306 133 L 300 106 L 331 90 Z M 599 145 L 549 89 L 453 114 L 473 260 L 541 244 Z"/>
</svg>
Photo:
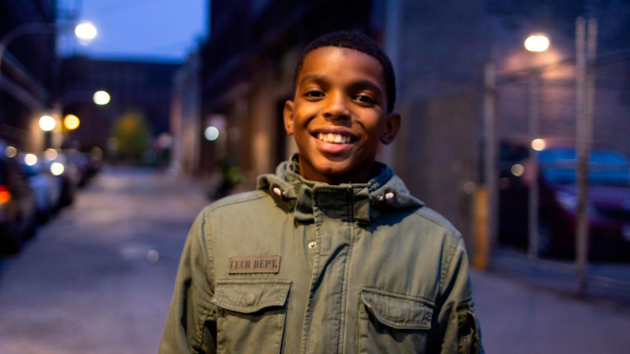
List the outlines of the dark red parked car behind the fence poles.
<svg viewBox="0 0 630 354">
<path fill-rule="evenodd" d="M 550 140 L 553 142 L 553 140 Z M 577 219 L 574 146 L 548 144 L 538 154 L 538 173 L 529 149 L 501 143 L 501 243 L 527 246 L 530 181 L 539 181 L 539 252 L 575 253 Z M 630 161 L 619 151 L 593 149 L 588 162 L 589 252 L 630 260 Z"/>
</svg>

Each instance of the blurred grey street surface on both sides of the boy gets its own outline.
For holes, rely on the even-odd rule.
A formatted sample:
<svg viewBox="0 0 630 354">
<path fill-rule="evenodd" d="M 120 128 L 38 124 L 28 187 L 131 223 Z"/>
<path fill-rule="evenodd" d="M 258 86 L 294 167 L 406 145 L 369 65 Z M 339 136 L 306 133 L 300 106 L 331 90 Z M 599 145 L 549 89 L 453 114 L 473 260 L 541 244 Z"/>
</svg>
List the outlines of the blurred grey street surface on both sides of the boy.
<svg viewBox="0 0 630 354">
<path fill-rule="evenodd" d="M 105 169 L 21 254 L 0 259 L 0 353 L 156 353 L 181 247 L 206 203 L 168 174 Z M 630 347 L 627 306 L 472 278 L 487 353 Z"/>
</svg>

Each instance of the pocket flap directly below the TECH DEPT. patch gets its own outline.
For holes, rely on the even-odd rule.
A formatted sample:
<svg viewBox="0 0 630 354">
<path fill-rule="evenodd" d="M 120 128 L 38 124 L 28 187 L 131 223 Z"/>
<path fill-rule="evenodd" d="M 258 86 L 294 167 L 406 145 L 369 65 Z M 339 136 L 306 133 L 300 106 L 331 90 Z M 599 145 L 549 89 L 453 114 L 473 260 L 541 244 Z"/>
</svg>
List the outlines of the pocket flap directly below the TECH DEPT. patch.
<svg viewBox="0 0 630 354">
<path fill-rule="evenodd" d="M 249 314 L 284 305 L 290 286 L 290 280 L 217 280 L 212 302 L 224 309 Z"/>
</svg>

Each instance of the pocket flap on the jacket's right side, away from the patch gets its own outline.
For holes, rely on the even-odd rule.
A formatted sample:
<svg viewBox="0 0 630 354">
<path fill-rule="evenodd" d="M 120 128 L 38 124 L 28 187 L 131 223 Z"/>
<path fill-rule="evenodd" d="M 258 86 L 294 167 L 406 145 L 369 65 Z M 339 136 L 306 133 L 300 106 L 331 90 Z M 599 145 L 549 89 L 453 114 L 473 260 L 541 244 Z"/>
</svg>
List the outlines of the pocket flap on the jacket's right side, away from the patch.
<svg viewBox="0 0 630 354">
<path fill-rule="evenodd" d="M 382 324 L 396 329 L 430 329 L 433 302 L 421 297 L 361 288 L 361 299 Z"/>
</svg>

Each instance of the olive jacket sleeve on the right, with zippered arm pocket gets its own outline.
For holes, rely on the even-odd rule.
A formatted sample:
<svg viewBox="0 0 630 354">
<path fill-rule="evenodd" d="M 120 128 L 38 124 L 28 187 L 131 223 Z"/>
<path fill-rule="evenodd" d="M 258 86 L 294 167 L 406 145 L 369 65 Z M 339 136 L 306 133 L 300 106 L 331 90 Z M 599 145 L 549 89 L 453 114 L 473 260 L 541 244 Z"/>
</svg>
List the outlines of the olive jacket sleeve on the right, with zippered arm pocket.
<svg viewBox="0 0 630 354">
<path fill-rule="evenodd" d="M 461 235 L 449 245 L 428 345 L 430 353 L 484 353 Z"/>
</svg>

